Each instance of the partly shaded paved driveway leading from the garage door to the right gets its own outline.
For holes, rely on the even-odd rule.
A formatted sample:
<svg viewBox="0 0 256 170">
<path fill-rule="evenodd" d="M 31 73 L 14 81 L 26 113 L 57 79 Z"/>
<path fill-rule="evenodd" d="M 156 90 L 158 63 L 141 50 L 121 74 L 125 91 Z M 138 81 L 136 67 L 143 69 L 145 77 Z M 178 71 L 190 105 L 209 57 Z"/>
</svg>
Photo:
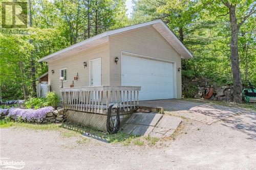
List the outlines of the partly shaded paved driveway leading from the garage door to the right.
<svg viewBox="0 0 256 170">
<path fill-rule="evenodd" d="M 140 106 L 163 107 L 167 114 L 184 116 L 208 125 L 224 120 L 223 126 L 239 130 L 247 134 L 248 139 L 256 140 L 256 112 L 250 109 L 176 99 L 141 101 Z"/>
</svg>

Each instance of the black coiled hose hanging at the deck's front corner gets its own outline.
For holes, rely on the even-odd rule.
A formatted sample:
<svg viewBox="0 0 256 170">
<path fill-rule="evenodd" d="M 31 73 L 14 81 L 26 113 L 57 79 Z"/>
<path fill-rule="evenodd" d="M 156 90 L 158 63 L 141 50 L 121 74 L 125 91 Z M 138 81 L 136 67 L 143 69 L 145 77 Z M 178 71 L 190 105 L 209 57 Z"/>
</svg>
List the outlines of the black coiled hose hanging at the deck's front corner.
<svg viewBox="0 0 256 170">
<path fill-rule="evenodd" d="M 111 105 L 108 109 L 108 116 L 106 117 L 106 129 L 109 133 L 114 134 L 117 133 L 120 128 L 120 116 L 119 111 L 120 108 L 114 108 L 116 110 L 116 117 L 113 119 L 112 116 L 112 108 L 114 105 Z"/>
</svg>

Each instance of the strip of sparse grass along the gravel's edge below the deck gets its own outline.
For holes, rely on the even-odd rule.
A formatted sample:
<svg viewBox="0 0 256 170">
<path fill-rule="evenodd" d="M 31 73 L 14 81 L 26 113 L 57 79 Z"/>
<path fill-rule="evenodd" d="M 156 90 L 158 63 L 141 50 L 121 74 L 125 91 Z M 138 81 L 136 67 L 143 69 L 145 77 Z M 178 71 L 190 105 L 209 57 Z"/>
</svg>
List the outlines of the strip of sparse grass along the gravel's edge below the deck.
<svg viewBox="0 0 256 170">
<path fill-rule="evenodd" d="M 91 128 L 81 127 L 78 125 L 65 123 L 65 124 L 35 124 L 35 123 L 19 123 L 13 122 L 10 120 L 2 119 L 0 120 L 0 128 L 9 128 L 9 127 L 22 127 L 32 130 L 56 130 L 59 131 L 61 136 L 63 137 L 73 137 L 79 136 L 79 134 L 83 134 L 85 132 L 90 133 L 91 135 L 100 137 L 108 141 L 109 143 L 120 143 L 122 145 L 138 145 L 143 146 L 145 144 L 155 145 L 159 138 L 155 137 L 142 137 L 142 136 L 134 136 L 127 135 L 121 131 L 116 134 L 109 134 L 106 132 L 97 131 Z M 77 140 L 78 144 L 88 144 L 90 139 L 86 137 L 82 137 L 82 139 Z"/>
</svg>

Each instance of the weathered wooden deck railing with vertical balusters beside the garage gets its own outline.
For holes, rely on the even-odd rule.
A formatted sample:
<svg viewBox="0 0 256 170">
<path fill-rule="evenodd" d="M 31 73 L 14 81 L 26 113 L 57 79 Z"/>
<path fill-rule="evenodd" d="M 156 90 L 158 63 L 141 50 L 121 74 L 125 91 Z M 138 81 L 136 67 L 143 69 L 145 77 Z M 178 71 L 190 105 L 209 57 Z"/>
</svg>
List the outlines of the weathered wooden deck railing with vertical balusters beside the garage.
<svg viewBox="0 0 256 170">
<path fill-rule="evenodd" d="M 105 114 L 109 103 L 117 103 L 121 112 L 139 106 L 140 86 L 87 86 L 60 88 L 62 107 L 69 110 Z"/>
</svg>

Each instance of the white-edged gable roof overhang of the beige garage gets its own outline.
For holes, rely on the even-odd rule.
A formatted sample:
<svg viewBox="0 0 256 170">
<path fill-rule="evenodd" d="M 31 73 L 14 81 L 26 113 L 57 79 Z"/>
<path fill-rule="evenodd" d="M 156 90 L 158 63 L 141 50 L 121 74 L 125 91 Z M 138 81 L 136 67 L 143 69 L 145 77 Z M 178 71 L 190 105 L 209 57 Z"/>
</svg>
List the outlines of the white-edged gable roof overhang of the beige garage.
<svg viewBox="0 0 256 170">
<path fill-rule="evenodd" d="M 49 62 L 55 59 L 66 57 L 78 53 L 82 50 L 91 48 L 93 46 L 97 46 L 105 42 L 108 42 L 109 36 L 148 26 L 153 26 L 164 37 L 164 39 L 175 48 L 175 50 L 181 55 L 181 58 L 193 57 L 192 54 L 187 50 L 185 45 L 179 40 L 179 38 L 165 25 L 165 23 L 161 19 L 158 19 L 98 34 L 81 42 L 68 46 L 46 57 L 43 57 L 39 59 L 38 62 Z"/>
</svg>

